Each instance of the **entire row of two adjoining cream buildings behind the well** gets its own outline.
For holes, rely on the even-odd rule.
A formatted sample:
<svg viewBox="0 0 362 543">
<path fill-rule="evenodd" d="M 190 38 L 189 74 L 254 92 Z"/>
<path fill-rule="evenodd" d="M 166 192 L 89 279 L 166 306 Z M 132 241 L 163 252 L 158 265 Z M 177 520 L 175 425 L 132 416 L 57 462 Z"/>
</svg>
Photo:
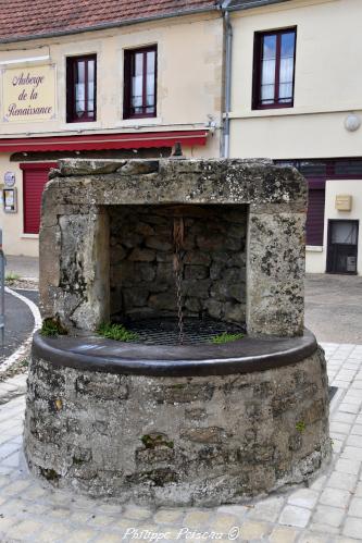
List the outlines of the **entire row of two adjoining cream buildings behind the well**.
<svg viewBox="0 0 362 543">
<path fill-rule="evenodd" d="M 267 157 L 309 183 L 307 271 L 362 274 L 362 4 L 20 0 L 0 9 L 0 226 L 38 254 L 62 157 Z M 82 9 L 80 9 L 80 8 Z M 14 34 L 15 28 L 15 34 Z"/>
</svg>

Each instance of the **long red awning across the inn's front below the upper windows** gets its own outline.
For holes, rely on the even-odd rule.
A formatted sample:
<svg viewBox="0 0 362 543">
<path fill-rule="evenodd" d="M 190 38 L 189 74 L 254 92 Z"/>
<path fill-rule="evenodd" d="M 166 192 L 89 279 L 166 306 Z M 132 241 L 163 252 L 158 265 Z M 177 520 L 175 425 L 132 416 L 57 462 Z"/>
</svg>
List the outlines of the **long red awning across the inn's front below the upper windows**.
<svg viewBox="0 0 362 543">
<path fill-rule="evenodd" d="M 185 147 L 190 147 L 205 145 L 207 137 L 208 129 L 0 138 L 0 152 L 139 149 L 173 147 L 176 143 L 180 143 Z"/>
</svg>

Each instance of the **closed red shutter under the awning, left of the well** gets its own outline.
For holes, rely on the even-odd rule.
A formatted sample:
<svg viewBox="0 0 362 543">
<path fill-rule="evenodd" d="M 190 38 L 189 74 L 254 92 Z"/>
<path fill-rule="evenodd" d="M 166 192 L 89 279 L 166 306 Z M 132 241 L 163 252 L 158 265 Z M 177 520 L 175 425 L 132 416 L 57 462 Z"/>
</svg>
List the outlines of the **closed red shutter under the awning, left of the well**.
<svg viewBox="0 0 362 543">
<path fill-rule="evenodd" d="M 24 234 L 38 234 L 42 190 L 55 163 L 20 164 L 23 170 Z"/>
</svg>

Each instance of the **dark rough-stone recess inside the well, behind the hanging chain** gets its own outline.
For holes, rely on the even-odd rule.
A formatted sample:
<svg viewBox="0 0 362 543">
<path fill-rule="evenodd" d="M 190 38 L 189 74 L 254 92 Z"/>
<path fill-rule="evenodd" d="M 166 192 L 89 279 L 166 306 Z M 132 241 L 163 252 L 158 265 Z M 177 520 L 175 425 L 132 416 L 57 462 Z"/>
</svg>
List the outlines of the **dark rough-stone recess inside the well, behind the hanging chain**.
<svg viewBox="0 0 362 543">
<path fill-rule="evenodd" d="M 178 266 L 185 317 L 245 322 L 246 206 L 112 206 L 109 214 L 113 321 L 177 317 Z"/>
</svg>

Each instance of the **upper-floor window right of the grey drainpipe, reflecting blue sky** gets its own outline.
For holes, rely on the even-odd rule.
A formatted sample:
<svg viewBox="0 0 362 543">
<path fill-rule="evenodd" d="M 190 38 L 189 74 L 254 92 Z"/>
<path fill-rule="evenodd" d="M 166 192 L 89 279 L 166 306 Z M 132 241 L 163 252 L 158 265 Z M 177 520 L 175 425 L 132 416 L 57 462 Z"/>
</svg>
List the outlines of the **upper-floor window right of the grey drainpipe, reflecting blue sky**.
<svg viewBox="0 0 362 543">
<path fill-rule="evenodd" d="M 255 33 L 252 109 L 291 108 L 296 28 Z"/>
</svg>

